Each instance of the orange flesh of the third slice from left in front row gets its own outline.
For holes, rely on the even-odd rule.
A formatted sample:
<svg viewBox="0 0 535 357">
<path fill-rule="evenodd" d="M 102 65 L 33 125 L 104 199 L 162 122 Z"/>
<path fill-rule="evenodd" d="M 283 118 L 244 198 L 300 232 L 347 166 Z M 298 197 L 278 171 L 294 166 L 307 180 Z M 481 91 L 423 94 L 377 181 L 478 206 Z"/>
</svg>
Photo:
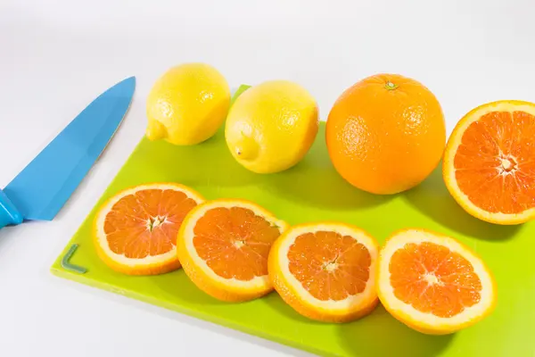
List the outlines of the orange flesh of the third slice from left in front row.
<svg viewBox="0 0 535 357">
<path fill-rule="evenodd" d="M 344 300 L 362 293 L 372 262 L 366 246 L 333 231 L 305 233 L 288 250 L 289 269 L 318 300 Z"/>
</svg>

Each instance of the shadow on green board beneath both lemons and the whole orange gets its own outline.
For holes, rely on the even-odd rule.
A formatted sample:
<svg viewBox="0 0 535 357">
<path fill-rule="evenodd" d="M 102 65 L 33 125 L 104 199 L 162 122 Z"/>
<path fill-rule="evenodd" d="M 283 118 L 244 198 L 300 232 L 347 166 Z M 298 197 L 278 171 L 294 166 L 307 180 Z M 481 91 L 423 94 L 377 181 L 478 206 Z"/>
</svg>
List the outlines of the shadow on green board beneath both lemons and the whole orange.
<svg viewBox="0 0 535 357">
<path fill-rule="evenodd" d="M 252 172 L 236 162 L 226 146 L 224 126 L 199 145 L 178 146 L 157 141 L 140 145 L 138 155 L 148 165 L 144 170 L 150 170 L 152 176 L 162 181 L 209 188 L 213 192 L 223 187 L 259 187 L 294 203 L 325 210 L 366 209 L 394 197 L 368 194 L 342 179 L 327 153 L 323 123 L 305 158 L 288 170 L 272 174 Z"/>
</svg>

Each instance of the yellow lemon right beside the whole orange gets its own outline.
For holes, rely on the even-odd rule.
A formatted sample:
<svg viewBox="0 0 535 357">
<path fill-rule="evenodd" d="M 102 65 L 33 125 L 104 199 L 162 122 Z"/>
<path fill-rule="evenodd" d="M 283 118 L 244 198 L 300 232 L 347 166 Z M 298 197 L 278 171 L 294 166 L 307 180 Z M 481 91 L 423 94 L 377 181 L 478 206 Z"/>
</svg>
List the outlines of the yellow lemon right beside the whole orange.
<svg viewBox="0 0 535 357">
<path fill-rule="evenodd" d="M 307 154 L 318 126 L 317 103 L 305 88 L 271 80 L 237 97 L 226 118 L 226 145 L 246 169 L 278 172 Z"/>
</svg>

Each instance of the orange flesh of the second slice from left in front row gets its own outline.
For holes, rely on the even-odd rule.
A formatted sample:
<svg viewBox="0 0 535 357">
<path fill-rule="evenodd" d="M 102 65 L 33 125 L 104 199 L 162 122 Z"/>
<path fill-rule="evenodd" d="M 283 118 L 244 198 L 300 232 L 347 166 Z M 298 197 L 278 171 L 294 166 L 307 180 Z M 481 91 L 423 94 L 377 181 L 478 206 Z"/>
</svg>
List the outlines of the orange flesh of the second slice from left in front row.
<svg viewBox="0 0 535 357">
<path fill-rule="evenodd" d="M 199 257 L 219 277 L 251 280 L 268 275 L 268 254 L 280 229 L 243 207 L 218 207 L 193 228 Z"/>
</svg>

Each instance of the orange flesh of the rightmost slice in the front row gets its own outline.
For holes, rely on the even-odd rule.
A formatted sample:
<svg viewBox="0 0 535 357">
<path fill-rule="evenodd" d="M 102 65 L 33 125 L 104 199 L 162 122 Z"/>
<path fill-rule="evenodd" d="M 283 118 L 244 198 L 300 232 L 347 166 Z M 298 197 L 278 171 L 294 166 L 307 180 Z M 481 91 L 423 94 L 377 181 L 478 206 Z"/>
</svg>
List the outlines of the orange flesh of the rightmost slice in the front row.
<svg viewBox="0 0 535 357">
<path fill-rule="evenodd" d="M 472 264 L 443 245 L 409 243 L 392 254 L 389 270 L 394 295 L 418 311 L 449 318 L 481 299 Z"/>
</svg>

